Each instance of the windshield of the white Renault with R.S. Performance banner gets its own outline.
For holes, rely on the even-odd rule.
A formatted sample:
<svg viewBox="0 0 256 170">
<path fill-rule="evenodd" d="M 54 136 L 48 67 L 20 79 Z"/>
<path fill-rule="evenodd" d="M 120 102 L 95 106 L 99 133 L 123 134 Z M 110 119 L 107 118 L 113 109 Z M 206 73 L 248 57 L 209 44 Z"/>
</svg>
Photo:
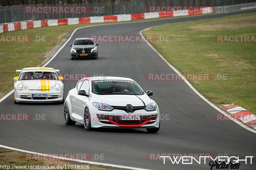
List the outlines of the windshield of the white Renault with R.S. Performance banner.
<svg viewBox="0 0 256 170">
<path fill-rule="evenodd" d="M 127 94 L 142 95 L 143 92 L 134 81 L 128 80 L 93 80 L 94 94 Z"/>
</svg>

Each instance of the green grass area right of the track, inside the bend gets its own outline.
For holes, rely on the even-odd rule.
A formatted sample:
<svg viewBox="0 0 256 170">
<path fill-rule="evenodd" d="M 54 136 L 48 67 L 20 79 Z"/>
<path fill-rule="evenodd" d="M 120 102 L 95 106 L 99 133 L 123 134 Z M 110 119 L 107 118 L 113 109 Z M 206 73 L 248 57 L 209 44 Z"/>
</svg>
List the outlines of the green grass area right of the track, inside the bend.
<svg viewBox="0 0 256 170">
<path fill-rule="evenodd" d="M 255 35 L 256 13 L 154 26 L 144 35 L 171 35 L 151 42 L 182 73 L 228 74 L 228 80 L 190 81 L 214 104 L 235 103 L 256 114 L 256 43 L 215 42 L 214 35 Z"/>
</svg>

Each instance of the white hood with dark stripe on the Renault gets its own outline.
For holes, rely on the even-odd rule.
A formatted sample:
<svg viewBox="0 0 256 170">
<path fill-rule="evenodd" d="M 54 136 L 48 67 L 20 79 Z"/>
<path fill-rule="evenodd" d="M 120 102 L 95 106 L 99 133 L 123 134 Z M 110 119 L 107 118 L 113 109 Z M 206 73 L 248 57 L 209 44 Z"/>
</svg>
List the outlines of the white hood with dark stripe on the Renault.
<svg viewBox="0 0 256 170">
<path fill-rule="evenodd" d="M 147 94 L 144 95 L 126 95 L 126 94 L 113 94 L 113 95 L 98 95 L 92 93 L 92 99 L 96 102 L 105 103 L 110 106 L 147 106 L 149 103 L 155 102 L 150 99 Z M 142 101 L 143 102 L 142 102 Z"/>
</svg>

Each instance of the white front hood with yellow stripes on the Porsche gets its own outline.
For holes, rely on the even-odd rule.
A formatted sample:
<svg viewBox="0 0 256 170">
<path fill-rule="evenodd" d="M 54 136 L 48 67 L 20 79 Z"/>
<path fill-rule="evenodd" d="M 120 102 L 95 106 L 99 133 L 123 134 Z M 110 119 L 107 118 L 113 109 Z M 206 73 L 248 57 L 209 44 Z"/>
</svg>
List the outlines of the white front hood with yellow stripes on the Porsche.
<svg viewBox="0 0 256 170">
<path fill-rule="evenodd" d="M 50 90 L 50 87 L 55 83 L 59 82 L 60 85 L 62 84 L 60 80 L 20 80 L 19 82 L 26 85 L 29 90 Z M 17 85 L 20 84 L 19 82 L 17 82 Z M 45 87 L 47 89 L 44 89 Z"/>
</svg>

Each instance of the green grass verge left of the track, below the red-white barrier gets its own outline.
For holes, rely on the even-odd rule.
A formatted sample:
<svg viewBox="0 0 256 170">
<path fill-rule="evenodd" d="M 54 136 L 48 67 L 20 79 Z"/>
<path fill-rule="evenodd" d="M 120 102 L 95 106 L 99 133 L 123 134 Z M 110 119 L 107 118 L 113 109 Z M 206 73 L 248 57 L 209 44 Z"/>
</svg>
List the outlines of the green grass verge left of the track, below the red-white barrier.
<svg viewBox="0 0 256 170">
<path fill-rule="evenodd" d="M 39 42 L 0 42 L 0 98 L 13 89 L 13 78 L 15 76 L 19 76 L 19 74 L 16 74 L 16 70 L 20 70 L 25 67 L 42 66 L 43 63 L 47 61 L 47 59 L 43 56 L 54 46 L 56 46 L 60 40 L 68 33 L 68 31 L 82 26 L 148 21 L 155 19 L 166 18 L 139 19 L 124 22 L 49 26 L 0 33 L 0 35 L 29 35 L 33 38 L 36 38 L 36 36 L 44 36 L 46 38 L 45 41 Z"/>
</svg>

